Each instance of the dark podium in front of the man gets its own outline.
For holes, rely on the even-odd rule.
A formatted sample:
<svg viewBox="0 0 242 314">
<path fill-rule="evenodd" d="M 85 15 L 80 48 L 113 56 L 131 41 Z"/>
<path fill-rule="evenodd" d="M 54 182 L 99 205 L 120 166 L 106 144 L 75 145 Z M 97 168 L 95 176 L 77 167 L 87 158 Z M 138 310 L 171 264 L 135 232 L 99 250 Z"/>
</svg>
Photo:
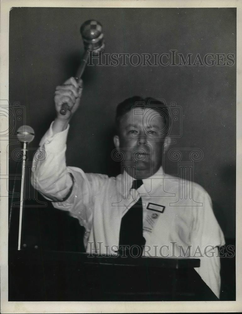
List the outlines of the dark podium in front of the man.
<svg viewBox="0 0 242 314">
<path fill-rule="evenodd" d="M 218 300 L 199 259 L 9 250 L 9 301 Z"/>
</svg>

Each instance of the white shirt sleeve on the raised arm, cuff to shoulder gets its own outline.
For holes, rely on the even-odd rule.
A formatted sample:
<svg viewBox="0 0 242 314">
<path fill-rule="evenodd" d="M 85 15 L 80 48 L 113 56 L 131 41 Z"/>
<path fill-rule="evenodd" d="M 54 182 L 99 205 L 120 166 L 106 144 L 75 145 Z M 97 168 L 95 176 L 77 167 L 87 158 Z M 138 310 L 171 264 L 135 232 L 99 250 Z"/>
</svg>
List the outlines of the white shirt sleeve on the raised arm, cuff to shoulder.
<svg viewBox="0 0 242 314">
<path fill-rule="evenodd" d="M 84 173 L 80 168 L 66 166 L 68 130 L 69 125 L 66 130 L 53 135 L 51 124 L 35 153 L 31 183 L 52 201 L 55 208 L 69 211 L 88 232 L 96 195 L 108 176 Z"/>
</svg>

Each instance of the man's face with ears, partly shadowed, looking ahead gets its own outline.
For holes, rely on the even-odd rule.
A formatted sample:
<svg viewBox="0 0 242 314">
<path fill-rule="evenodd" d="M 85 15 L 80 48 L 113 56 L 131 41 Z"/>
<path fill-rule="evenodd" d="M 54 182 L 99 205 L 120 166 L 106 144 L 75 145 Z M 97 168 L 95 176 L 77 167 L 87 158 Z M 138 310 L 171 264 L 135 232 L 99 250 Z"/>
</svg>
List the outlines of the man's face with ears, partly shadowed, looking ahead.
<svg viewBox="0 0 242 314">
<path fill-rule="evenodd" d="M 119 134 L 114 144 L 124 152 L 123 163 L 136 165 L 139 178 L 149 177 L 162 165 L 162 147 L 168 138 L 162 138 L 164 121 L 151 108 L 135 107 L 121 117 Z"/>
</svg>

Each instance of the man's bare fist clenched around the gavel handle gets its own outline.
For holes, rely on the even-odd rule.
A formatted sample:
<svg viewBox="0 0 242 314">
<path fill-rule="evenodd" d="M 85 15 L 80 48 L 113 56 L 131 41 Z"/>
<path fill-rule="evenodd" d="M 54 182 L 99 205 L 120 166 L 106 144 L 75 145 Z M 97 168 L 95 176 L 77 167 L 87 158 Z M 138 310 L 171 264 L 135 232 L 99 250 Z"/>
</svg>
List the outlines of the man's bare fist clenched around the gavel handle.
<svg viewBox="0 0 242 314">
<path fill-rule="evenodd" d="M 63 85 L 57 86 L 55 90 L 55 109 L 58 119 L 69 120 L 72 114 L 80 105 L 83 82 L 81 79 L 78 82 L 73 78 L 69 78 Z M 65 115 L 60 114 L 63 104 L 68 105 L 68 110 Z"/>
</svg>

